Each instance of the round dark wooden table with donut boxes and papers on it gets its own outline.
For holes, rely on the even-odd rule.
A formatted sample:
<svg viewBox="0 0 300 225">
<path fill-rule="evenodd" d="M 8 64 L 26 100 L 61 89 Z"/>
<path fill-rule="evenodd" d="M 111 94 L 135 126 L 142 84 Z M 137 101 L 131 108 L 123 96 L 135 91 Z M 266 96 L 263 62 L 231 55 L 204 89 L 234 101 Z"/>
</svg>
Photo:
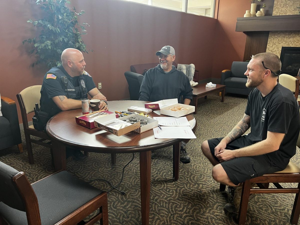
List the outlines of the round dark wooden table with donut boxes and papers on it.
<svg viewBox="0 0 300 225">
<path fill-rule="evenodd" d="M 144 107 L 146 101 L 108 101 L 109 111 L 127 111 L 130 106 Z M 179 178 L 180 142 L 183 139 L 154 138 L 153 130 L 144 133 L 131 131 L 116 136 L 99 128 L 89 129 L 75 122 L 75 116 L 82 115 L 81 109 L 62 111 L 53 116 L 46 125 L 46 132 L 52 140 L 52 152 L 55 170 L 66 169 L 66 146 L 73 146 L 86 152 L 112 154 L 112 162 L 116 153 L 140 152 L 140 182 L 142 224 L 149 224 L 150 210 L 150 176 L 151 150 L 173 145 L 173 178 Z M 165 116 L 160 110 L 149 113 L 149 118 Z M 191 129 L 195 132 L 196 119 L 192 114 L 186 115 Z"/>
</svg>

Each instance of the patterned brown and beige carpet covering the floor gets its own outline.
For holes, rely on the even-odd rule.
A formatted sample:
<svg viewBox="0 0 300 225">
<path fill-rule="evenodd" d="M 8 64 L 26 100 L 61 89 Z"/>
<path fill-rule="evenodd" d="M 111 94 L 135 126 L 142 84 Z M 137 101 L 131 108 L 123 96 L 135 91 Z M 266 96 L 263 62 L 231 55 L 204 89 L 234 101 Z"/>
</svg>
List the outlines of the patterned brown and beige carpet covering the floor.
<svg viewBox="0 0 300 225">
<path fill-rule="evenodd" d="M 200 145 L 204 140 L 226 135 L 241 119 L 247 99 L 229 95 L 225 102 L 220 97 L 209 95 L 199 99 L 195 115 L 198 127 L 197 139 L 187 145 L 191 163 L 180 163 L 179 180 L 172 179 L 172 148 L 159 149 L 151 167 L 150 224 L 235 224 L 237 213 L 227 214 L 228 191 L 219 192 L 219 184 L 211 177 L 211 164 L 203 156 Z M 96 128 L 97 129 L 97 128 Z M 28 163 L 24 133 L 24 152 L 17 147 L 1 150 L 0 160 L 16 170 L 23 171 L 29 182 L 35 182 L 54 172 L 49 149 L 33 144 L 35 164 Z M 298 149 L 299 150 L 299 149 Z M 67 171 L 90 181 L 101 178 L 116 185 L 122 176 L 122 168 L 131 160 L 132 154 L 117 154 L 116 165 L 111 165 L 109 154 L 90 153 L 85 161 L 69 158 Z M 300 165 L 299 152 L 292 161 Z M 109 190 L 106 182 L 93 182 L 102 190 Z M 296 187 L 294 185 L 294 187 Z M 113 225 L 141 224 L 139 154 L 125 169 L 119 189 L 108 193 L 109 223 Z M 260 194 L 249 202 L 246 224 L 289 224 L 294 194 Z M 100 223 L 97 223 L 100 224 Z"/>
</svg>

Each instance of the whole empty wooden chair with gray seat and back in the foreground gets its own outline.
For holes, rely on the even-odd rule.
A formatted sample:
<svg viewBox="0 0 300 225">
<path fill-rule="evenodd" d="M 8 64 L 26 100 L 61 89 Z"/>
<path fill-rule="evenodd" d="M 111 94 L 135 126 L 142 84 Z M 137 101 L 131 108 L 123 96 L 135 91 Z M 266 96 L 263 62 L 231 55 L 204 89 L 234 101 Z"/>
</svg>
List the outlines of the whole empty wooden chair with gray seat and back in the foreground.
<svg viewBox="0 0 300 225">
<path fill-rule="evenodd" d="M 67 171 L 30 185 L 26 175 L 0 162 L 0 225 L 108 224 L 107 193 Z M 82 221 L 99 212 L 87 223 Z"/>
</svg>

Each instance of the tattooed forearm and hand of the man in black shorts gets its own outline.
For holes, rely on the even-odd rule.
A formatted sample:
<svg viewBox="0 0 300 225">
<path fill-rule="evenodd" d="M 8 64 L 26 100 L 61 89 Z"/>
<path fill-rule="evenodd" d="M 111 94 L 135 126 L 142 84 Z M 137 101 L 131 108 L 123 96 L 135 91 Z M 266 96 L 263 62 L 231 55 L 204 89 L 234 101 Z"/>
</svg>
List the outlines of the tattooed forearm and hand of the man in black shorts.
<svg viewBox="0 0 300 225">
<path fill-rule="evenodd" d="M 242 136 L 250 128 L 250 116 L 244 114 L 243 118 L 237 125 L 220 141 L 220 143 L 214 148 L 214 155 L 217 156 L 220 151 L 226 148 L 226 145 Z"/>
</svg>

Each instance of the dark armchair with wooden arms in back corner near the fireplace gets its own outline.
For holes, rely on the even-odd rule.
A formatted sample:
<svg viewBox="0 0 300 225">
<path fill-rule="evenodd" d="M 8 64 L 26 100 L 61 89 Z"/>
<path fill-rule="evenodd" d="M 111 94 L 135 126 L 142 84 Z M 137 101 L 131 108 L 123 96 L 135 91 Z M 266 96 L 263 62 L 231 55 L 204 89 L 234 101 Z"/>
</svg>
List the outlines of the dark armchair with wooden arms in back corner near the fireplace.
<svg viewBox="0 0 300 225">
<path fill-rule="evenodd" d="M 221 84 L 226 85 L 225 93 L 234 93 L 249 95 L 253 88 L 247 88 L 247 76 L 244 73 L 247 70 L 248 62 L 232 62 L 231 70 L 223 70 L 221 75 Z"/>
</svg>

